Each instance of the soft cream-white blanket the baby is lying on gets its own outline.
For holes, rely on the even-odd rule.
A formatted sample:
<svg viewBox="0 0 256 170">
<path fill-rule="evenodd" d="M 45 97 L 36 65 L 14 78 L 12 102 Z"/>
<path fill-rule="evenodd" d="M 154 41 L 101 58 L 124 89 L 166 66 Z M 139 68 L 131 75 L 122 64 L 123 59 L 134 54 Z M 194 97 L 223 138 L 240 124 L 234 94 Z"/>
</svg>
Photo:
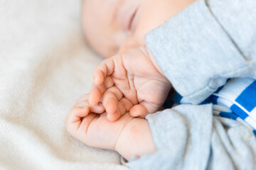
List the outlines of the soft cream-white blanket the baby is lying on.
<svg viewBox="0 0 256 170">
<path fill-rule="evenodd" d="M 64 126 L 101 60 L 82 38 L 80 1 L 0 0 L 0 169 L 127 169 Z"/>
</svg>

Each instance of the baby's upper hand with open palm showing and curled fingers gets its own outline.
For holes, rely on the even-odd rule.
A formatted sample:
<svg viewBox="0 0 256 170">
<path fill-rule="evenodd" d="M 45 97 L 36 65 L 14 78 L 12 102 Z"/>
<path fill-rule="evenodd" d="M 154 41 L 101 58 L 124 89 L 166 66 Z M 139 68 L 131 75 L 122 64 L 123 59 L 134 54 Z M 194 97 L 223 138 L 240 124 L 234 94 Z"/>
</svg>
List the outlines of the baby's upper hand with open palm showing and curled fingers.
<svg viewBox="0 0 256 170">
<path fill-rule="evenodd" d="M 164 103 L 171 84 L 156 69 L 146 47 L 139 47 L 104 60 L 95 70 L 89 103 L 102 100 L 107 118 L 117 120 L 129 111 L 144 118 Z"/>
</svg>

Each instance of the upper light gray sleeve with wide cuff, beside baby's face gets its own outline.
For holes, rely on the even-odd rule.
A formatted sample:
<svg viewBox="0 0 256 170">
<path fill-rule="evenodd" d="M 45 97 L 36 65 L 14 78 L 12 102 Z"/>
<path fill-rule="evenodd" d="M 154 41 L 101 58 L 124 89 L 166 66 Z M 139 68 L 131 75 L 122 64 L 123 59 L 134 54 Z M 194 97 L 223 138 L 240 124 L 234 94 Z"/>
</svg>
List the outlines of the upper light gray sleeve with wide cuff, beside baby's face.
<svg viewBox="0 0 256 170">
<path fill-rule="evenodd" d="M 255 8 L 255 0 L 198 0 L 146 35 L 184 100 L 201 103 L 228 78 L 256 78 Z"/>
</svg>

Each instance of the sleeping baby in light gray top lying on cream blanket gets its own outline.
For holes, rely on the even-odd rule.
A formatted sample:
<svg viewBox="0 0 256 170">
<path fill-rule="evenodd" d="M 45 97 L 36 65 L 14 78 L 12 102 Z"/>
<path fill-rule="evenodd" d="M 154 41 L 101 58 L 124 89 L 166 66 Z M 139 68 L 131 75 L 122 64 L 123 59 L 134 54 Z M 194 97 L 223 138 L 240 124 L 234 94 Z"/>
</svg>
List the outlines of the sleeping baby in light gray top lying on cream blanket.
<svg viewBox="0 0 256 170">
<path fill-rule="evenodd" d="M 253 169 L 256 52 L 243 47 L 256 44 L 255 7 L 252 0 L 83 1 L 85 38 L 107 59 L 67 115 L 70 135 L 119 152 L 131 169 Z M 251 35 L 235 42 L 241 30 Z M 172 87 L 178 106 L 159 111 Z"/>
</svg>

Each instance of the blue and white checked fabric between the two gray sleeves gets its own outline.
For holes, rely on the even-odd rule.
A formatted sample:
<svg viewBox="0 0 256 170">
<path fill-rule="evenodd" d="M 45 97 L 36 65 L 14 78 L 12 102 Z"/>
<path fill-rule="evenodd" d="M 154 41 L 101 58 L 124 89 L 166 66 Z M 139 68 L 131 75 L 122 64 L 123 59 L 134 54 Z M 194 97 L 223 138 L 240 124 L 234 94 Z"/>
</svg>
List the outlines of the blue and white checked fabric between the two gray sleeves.
<svg viewBox="0 0 256 170">
<path fill-rule="evenodd" d="M 188 103 L 178 94 L 174 95 L 174 102 Z M 213 111 L 213 113 L 246 123 L 256 137 L 256 81 L 254 79 L 230 79 L 201 104 L 206 103 L 227 108 L 228 112 Z"/>
</svg>

